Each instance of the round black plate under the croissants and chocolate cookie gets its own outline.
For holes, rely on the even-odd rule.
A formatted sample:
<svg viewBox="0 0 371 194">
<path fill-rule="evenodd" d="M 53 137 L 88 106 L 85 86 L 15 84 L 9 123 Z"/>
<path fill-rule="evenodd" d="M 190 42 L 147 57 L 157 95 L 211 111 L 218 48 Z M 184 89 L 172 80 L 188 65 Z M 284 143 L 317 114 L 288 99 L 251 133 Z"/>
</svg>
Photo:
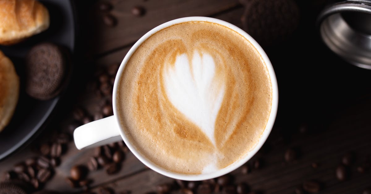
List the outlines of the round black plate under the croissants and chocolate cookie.
<svg viewBox="0 0 371 194">
<path fill-rule="evenodd" d="M 40 0 L 50 14 L 50 27 L 13 46 L 0 46 L 14 63 L 20 77 L 20 95 L 14 116 L 9 125 L 0 132 L 0 160 L 13 153 L 34 137 L 55 109 L 60 96 L 40 101 L 29 97 L 24 91 L 24 56 L 32 46 L 41 42 L 53 42 L 73 53 L 75 47 L 74 7 L 69 0 Z"/>
</svg>

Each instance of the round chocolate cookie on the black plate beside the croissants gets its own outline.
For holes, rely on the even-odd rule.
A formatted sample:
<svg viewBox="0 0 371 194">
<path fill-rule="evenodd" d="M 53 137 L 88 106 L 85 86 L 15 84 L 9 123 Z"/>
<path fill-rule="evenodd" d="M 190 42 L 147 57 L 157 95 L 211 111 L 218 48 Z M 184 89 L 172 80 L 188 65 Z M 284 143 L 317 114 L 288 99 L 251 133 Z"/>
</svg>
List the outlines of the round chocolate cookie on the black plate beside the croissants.
<svg viewBox="0 0 371 194">
<path fill-rule="evenodd" d="M 53 43 L 34 46 L 26 57 L 26 92 L 39 100 L 57 96 L 66 77 L 66 57 Z"/>
</svg>

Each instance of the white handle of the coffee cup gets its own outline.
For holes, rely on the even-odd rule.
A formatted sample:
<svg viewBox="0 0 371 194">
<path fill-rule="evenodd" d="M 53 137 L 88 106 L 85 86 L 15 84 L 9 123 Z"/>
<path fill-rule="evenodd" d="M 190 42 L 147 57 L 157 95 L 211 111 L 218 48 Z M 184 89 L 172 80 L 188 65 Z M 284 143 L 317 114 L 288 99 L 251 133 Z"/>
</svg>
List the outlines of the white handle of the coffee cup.
<svg viewBox="0 0 371 194">
<path fill-rule="evenodd" d="M 93 148 L 122 140 L 114 116 L 99 119 L 79 126 L 73 132 L 77 149 Z"/>
</svg>

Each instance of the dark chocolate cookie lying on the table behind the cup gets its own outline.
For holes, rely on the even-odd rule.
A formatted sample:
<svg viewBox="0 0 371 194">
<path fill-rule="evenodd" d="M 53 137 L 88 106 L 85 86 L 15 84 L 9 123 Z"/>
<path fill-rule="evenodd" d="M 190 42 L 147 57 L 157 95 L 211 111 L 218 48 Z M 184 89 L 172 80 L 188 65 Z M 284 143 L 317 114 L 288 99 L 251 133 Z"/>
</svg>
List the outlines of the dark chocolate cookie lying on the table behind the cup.
<svg viewBox="0 0 371 194">
<path fill-rule="evenodd" d="M 294 0 L 243 0 L 243 4 L 243 28 L 263 47 L 284 41 L 298 27 Z"/>
</svg>

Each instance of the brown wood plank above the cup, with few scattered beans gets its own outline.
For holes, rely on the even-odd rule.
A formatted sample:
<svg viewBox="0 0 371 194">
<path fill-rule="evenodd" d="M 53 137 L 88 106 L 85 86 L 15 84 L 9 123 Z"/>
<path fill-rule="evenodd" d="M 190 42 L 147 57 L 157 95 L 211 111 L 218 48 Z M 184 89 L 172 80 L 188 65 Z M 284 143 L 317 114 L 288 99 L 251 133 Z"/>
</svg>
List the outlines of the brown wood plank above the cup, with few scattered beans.
<svg viewBox="0 0 371 194">
<path fill-rule="evenodd" d="M 131 45 L 150 29 L 161 23 L 187 16 L 210 16 L 216 13 L 240 6 L 238 0 L 166 0 L 166 1 L 112 1 L 114 9 L 111 14 L 117 20 L 117 26 L 107 28 L 102 22 L 101 14 L 92 12 L 96 22 L 93 22 L 91 32 L 96 32 L 91 39 L 95 52 L 106 53 L 122 46 Z M 146 13 L 142 17 L 131 14 L 134 6 L 143 6 Z M 93 6 L 96 9 L 96 6 Z"/>
</svg>

